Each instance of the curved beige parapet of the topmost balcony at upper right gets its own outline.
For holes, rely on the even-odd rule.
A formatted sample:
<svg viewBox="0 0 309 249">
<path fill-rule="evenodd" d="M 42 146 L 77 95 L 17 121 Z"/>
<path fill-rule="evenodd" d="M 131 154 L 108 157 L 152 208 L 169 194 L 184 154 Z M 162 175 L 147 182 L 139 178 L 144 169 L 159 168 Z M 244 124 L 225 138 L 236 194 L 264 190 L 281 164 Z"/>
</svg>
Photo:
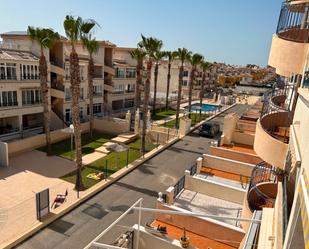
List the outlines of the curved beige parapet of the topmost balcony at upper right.
<svg viewBox="0 0 309 249">
<path fill-rule="evenodd" d="M 291 76 L 303 74 L 308 43 L 287 41 L 273 35 L 268 64 L 276 68 L 276 73 Z"/>
</svg>

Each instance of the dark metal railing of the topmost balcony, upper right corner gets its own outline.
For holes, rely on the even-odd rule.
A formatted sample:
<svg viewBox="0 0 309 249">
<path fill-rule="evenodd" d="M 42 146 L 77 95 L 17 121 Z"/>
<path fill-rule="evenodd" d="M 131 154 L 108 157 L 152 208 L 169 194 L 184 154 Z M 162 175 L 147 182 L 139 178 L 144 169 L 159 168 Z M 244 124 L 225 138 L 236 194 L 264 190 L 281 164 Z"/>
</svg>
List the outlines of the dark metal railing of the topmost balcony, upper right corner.
<svg viewBox="0 0 309 249">
<path fill-rule="evenodd" d="M 308 6 L 284 2 L 281 7 L 277 35 L 294 42 L 309 42 Z"/>
</svg>

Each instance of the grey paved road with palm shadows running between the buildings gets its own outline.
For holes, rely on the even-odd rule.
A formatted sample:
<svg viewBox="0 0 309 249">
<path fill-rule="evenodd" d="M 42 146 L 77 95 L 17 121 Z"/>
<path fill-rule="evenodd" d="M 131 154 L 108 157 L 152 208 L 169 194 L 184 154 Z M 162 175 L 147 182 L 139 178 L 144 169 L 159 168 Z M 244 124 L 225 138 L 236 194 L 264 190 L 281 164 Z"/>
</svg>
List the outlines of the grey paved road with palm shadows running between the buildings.
<svg viewBox="0 0 309 249">
<path fill-rule="evenodd" d="M 241 114 L 246 109 L 246 105 L 237 105 L 226 113 Z M 222 122 L 226 113 L 215 121 Z M 83 248 L 139 198 L 143 198 L 143 206 L 154 207 L 157 193 L 174 185 L 199 155 L 207 153 L 210 141 L 196 132 L 189 134 L 16 248 Z M 145 214 L 142 222 L 151 218 L 151 214 Z M 122 226 L 106 235 L 104 241 L 114 240 L 116 234 L 135 223 L 137 215 L 132 213 L 121 222 Z"/>
</svg>

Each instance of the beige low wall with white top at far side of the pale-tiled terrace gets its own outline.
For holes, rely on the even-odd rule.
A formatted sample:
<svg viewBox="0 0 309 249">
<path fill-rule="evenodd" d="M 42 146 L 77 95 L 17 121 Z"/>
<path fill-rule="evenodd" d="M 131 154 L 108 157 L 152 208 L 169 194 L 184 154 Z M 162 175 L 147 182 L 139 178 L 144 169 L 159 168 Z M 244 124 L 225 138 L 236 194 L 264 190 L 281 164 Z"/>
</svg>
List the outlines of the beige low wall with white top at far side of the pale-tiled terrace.
<svg viewBox="0 0 309 249">
<path fill-rule="evenodd" d="M 196 176 L 186 175 L 185 189 L 242 205 L 246 191 Z"/>
</svg>

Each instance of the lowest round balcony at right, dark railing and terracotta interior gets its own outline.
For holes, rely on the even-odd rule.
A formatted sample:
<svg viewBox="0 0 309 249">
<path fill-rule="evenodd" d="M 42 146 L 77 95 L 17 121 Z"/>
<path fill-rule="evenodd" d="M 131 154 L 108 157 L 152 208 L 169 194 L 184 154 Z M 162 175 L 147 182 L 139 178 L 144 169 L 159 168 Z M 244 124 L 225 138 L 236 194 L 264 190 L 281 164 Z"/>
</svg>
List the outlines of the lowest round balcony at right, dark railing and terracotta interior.
<svg viewBox="0 0 309 249">
<path fill-rule="evenodd" d="M 277 196 L 278 177 L 266 162 L 257 164 L 251 173 L 247 201 L 250 210 L 273 208 Z"/>
</svg>

